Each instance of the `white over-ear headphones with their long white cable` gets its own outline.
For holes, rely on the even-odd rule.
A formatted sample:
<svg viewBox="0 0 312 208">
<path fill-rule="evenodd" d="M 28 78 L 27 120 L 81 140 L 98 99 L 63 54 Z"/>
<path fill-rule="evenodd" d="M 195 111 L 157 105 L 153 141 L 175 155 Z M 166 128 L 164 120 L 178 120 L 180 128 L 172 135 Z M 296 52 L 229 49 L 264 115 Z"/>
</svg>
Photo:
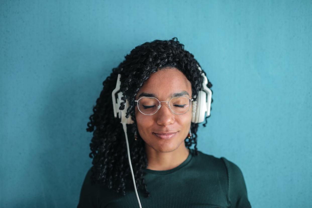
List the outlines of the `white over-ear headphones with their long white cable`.
<svg viewBox="0 0 312 208">
<path fill-rule="evenodd" d="M 197 67 L 198 67 L 199 71 L 202 71 L 202 69 L 198 65 L 197 65 Z M 203 90 L 198 92 L 197 100 L 192 102 L 192 105 L 193 105 L 192 122 L 193 123 L 203 122 L 205 120 L 205 113 L 206 113 L 206 116 L 210 116 L 212 91 L 207 87 L 207 84 L 208 84 L 207 77 L 205 76 L 204 73 L 202 73 L 202 76 L 204 77 L 204 81 L 202 82 L 202 89 Z M 124 109 L 119 110 L 120 103 L 122 102 L 122 99 L 121 99 L 122 92 L 118 92 L 120 90 L 120 83 L 121 83 L 120 77 L 121 77 L 121 75 L 118 74 L 116 88 L 112 92 L 114 116 L 115 116 L 115 118 L 117 118 L 117 114 L 118 114 L 118 117 L 121 119 L 120 123 L 122 123 L 123 129 L 124 129 L 124 135 L 126 137 L 128 159 L 129 159 L 129 165 L 130 165 L 130 170 L 131 170 L 131 175 L 132 175 L 132 180 L 133 180 L 133 185 L 134 185 L 134 191 L 135 191 L 135 194 L 136 194 L 138 202 L 139 202 L 139 207 L 142 208 L 141 202 L 139 199 L 139 195 L 138 195 L 138 191 L 137 191 L 136 185 L 135 185 L 135 179 L 134 179 L 134 174 L 133 174 L 133 169 L 132 169 L 132 164 L 131 164 L 131 159 L 130 159 L 130 150 L 129 150 L 129 142 L 128 142 L 126 124 L 132 124 L 134 122 L 131 119 L 131 116 L 129 116 L 129 118 L 126 118 L 127 109 L 129 107 L 128 99 L 126 99 Z M 116 94 L 117 94 L 117 98 L 116 98 Z"/>
</svg>

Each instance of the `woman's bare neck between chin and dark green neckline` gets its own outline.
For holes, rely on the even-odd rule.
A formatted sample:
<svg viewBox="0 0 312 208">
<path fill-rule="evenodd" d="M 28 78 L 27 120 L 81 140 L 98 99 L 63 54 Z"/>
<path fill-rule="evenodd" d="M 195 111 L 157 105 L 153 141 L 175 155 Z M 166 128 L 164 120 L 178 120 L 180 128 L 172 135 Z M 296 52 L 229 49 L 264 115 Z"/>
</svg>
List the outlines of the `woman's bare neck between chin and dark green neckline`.
<svg viewBox="0 0 312 208">
<path fill-rule="evenodd" d="M 182 164 L 189 155 L 188 148 L 181 144 L 178 149 L 172 152 L 158 152 L 145 144 L 148 161 L 147 169 L 150 170 L 170 170 Z"/>
</svg>

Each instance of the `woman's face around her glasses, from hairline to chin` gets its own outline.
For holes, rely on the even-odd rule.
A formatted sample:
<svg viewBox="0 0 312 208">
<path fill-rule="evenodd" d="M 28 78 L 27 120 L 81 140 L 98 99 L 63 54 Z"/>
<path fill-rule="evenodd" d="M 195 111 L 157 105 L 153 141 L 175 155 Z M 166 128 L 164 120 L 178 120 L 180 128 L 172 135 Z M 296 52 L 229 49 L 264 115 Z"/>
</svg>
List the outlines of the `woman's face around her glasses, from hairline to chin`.
<svg viewBox="0 0 312 208">
<path fill-rule="evenodd" d="M 144 94 L 154 94 L 159 101 L 169 101 L 173 94 L 187 92 L 192 96 L 191 82 L 176 68 L 164 68 L 152 73 L 136 95 L 138 100 Z M 150 97 L 150 96 L 149 96 Z M 192 98 L 191 98 L 192 99 Z M 140 136 L 146 143 L 146 148 L 153 148 L 157 152 L 172 152 L 180 145 L 184 146 L 192 120 L 192 106 L 182 115 L 171 112 L 168 103 L 161 102 L 161 108 L 154 115 L 144 115 L 135 107 L 135 117 Z M 162 136 L 160 134 L 173 135 Z M 171 138 L 161 138 L 170 137 Z"/>
</svg>

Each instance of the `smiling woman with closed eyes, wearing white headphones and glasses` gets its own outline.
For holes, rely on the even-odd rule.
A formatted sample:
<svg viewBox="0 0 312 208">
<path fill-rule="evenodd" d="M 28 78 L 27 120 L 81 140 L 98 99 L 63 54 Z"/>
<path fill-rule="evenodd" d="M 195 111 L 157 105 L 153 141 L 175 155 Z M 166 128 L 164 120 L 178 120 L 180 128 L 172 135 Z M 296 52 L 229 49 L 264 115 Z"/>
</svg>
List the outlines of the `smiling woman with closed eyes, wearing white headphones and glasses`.
<svg viewBox="0 0 312 208">
<path fill-rule="evenodd" d="M 176 38 L 137 46 L 103 86 L 79 208 L 251 207 L 241 170 L 197 150 L 212 84 Z"/>
</svg>

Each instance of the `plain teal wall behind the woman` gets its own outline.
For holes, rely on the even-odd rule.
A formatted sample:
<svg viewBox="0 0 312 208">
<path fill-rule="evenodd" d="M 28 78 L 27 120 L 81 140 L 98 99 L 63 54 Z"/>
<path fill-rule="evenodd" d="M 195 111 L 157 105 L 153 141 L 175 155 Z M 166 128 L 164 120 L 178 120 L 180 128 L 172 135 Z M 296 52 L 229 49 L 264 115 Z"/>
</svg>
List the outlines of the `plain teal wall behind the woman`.
<svg viewBox="0 0 312 208">
<path fill-rule="evenodd" d="M 213 83 L 198 148 L 252 207 L 312 206 L 311 1 L 1 1 L 0 207 L 76 207 L 86 123 L 135 46 L 178 40 Z"/>
</svg>

